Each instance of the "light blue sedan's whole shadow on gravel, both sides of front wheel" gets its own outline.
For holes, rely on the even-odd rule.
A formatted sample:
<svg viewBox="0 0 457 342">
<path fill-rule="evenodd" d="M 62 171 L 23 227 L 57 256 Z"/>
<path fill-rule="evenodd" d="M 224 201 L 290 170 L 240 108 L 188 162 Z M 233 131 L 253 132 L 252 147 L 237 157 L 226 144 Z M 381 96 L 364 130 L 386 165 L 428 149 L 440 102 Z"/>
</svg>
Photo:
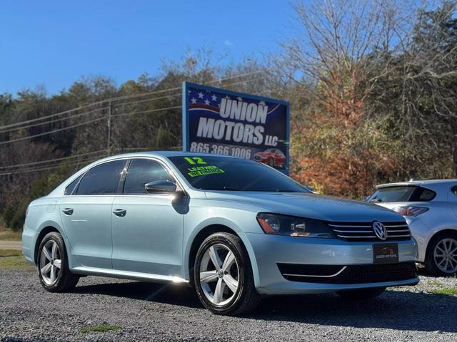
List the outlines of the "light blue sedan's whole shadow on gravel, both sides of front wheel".
<svg viewBox="0 0 457 342">
<path fill-rule="evenodd" d="M 194 289 L 185 286 L 132 281 L 77 286 L 73 292 L 203 309 Z M 240 319 L 456 333 L 456 317 L 457 296 L 388 290 L 366 301 L 348 301 L 336 294 L 271 296 Z"/>
</svg>

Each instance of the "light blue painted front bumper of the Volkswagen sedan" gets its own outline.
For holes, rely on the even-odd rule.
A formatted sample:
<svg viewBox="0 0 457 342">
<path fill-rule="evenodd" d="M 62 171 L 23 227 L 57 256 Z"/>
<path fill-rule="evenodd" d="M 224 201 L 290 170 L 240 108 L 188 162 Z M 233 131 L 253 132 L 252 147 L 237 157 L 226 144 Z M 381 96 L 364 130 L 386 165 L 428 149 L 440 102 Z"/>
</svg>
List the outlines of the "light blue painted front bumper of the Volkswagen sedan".
<svg viewBox="0 0 457 342">
<path fill-rule="evenodd" d="M 347 289 L 364 289 L 384 286 L 415 285 L 418 277 L 414 274 L 407 279 L 392 280 L 388 276 L 383 279 L 383 274 L 374 274 L 376 281 L 358 281 L 351 284 L 341 284 L 341 272 L 356 269 L 358 279 L 360 269 L 371 269 L 373 265 L 373 244 L 378 242 L 346 242 L 338 239 L 314 239 L 301 237 L 286 237 L 269 234 L 246 234 L 253 252 L 253 272 L 256 289 L 260 294 L 318 294 Z M 381 242 L 383 243 L 383 242 Z M 391 243 L 391 242 L 389 242 Z M 417 244 L 414 239 L 409 241 L 393 242 L 398 244 L 398 261 L 401 264 L 413 264 L 417 260 Z M 251 257 L 252 258 L 252 257 Z M 339 266 L 334 269 L 342 270 L 330 272 L 326 276 L 303 277 L 304 281 L 287 280 L 281 274 L 278 264 L 293 266 Z M 382 265 L 383 271 L 395 268 L 398 264 Z M 344 267 L 346 266 L 346 269 Z M 374 265 L 373 265 L 374 266 Z M 374 269 L 378 269 L 374 266 Z M 319 273 L 319 272 L 318 272 Z M 336 274 L 333 276 L 333 274 Z M 332 275 L 332 276 L 328 276 Z M 290 278 L 290 277 L 289 277 Z M 297 279 L 297 277 L 293 277 Z M 312 279 L 306 281 L 306 279 Z M 323 279 L 320 281 L 319 279 Z M 335 281 L 333 281 L 333 279 Z M 347 279 L 345 280 L 347 283 Z M 344 281 L 343 281 L 344 282 Z"/>
</svg>

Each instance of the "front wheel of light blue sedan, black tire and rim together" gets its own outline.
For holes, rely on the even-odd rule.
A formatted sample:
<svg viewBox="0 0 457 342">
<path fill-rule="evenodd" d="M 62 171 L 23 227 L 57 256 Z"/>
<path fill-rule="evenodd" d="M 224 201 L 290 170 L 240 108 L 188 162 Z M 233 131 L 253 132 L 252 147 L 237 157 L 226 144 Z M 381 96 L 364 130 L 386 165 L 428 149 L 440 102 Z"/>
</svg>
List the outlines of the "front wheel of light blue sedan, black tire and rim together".
<svg viewBox="0 0 457 342">
<path fill-rule="evenodd" d="M 206 276 L 206 281 L 201 276 Z M 213 314 L 246 314 L 261 300 L 241 239 L 225 232 L 211 234 L 201 244 L 194 264 L 194 284 L 201 304 Z"/>
</svg>

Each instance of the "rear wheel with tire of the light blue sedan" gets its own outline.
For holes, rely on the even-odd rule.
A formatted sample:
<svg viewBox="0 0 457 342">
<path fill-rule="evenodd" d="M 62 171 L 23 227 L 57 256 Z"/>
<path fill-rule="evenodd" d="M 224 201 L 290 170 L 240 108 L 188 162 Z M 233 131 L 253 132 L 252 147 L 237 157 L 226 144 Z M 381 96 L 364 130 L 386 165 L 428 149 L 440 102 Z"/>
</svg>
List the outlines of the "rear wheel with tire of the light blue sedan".
<svg viewBox="0 0 457 342">
<path fill-rule="evenodd" d="M 64 239 L 58 232 L 50 232 L 41 240 L 36 259 L 39 279 L 46 291 L 64 292 L 78 283 L 79 276 L 69 270 Z"/>
</svg>

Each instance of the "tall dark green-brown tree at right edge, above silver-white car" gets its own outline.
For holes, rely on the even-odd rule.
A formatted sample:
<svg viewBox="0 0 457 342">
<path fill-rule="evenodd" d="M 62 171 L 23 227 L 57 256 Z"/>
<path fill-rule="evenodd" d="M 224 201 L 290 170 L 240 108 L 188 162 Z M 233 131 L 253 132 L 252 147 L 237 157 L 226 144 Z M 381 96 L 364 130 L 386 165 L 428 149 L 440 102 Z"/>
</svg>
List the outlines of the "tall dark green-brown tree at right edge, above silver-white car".
<svg viewBox="0 0 457 342">
<path fill-rule="evenodd" d="M 402 142 L 412 177 L 457 177 L 456 2 L 418 11 L 411 38 L 389 53 L 391 72 L 374 73 L 368 103 L 371 116 Z M 373 61 L 381 61 L 380 53 Z M 375 77 L 375 75 L 377 75 Z"/>
</svg>

